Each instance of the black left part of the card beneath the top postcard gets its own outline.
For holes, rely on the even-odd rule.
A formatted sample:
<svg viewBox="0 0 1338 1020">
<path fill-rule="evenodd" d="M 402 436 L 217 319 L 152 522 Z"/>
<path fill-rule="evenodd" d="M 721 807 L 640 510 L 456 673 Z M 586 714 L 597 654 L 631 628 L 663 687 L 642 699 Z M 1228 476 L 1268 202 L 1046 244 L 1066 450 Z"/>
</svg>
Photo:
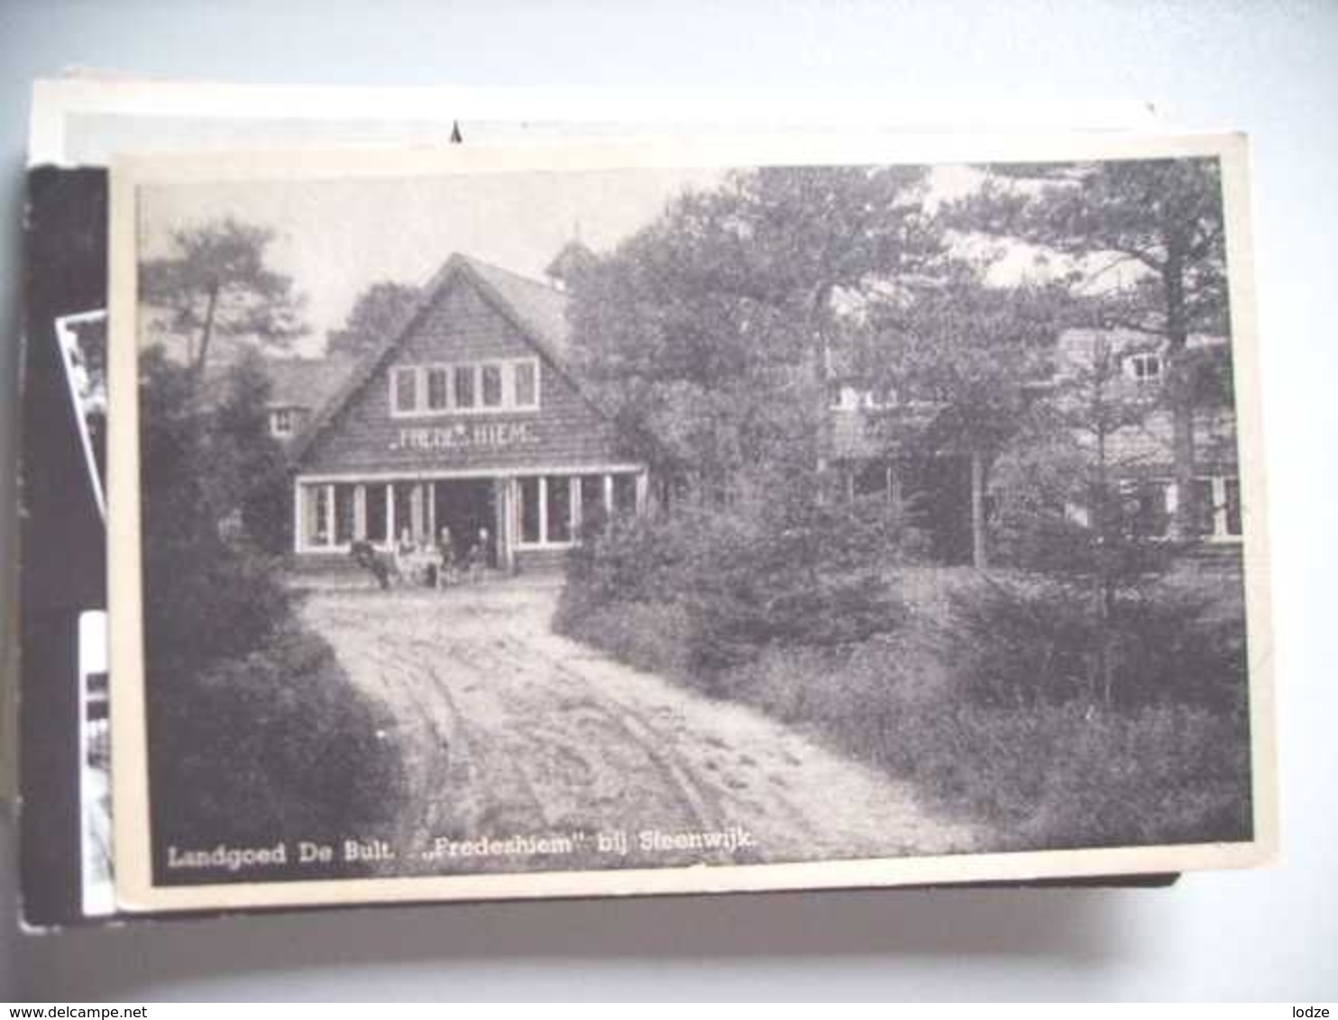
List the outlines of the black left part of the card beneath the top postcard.
<svg viewBox="0 0 1338 1020">
<path fill-rule="evenodd" d="M 79 614 L 106 608 L 106 528 L 92 491 L 55 320 L 107 302 L 107 175 L 28 176 L 24 249 L 20 545 L 21 888 L 25 917 L 79 914 Z"/>
</svg>

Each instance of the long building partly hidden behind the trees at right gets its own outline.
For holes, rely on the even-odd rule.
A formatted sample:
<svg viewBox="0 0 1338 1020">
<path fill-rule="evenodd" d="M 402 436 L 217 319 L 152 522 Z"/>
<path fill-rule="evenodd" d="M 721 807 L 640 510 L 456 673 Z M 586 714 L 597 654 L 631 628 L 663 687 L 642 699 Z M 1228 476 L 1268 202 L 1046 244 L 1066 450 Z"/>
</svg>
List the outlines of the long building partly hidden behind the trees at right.
<svg viewBox="0 0 1338 1020">
<path fill-rule="evenodd" d="M 1231 348 L 1226 337 L 1193 336 L 1191 354 L 1202 378 L 1195 392 L 1193 531 L 1185 539 L 1232 545 L 1242 537 L 1236 417 L 1230 393 Z M 1103 412 L 1107 471 L 1119 492 L 1131 533 L 1169 539 L 1180 495 L 1175 481 L 1173 425 L 1163 394 L 1168 354 L 1164 342 L 1129 330 L 1066 329 L 1056 341 L 1049 377 L 1036 396 L 1089 408 L 1093 378 L 1104 373 Z M 1098 368 L 1098 362 L 1103 362 Z M 1123 412 L 1116 412 L 1116 406 Z M 878 397 L 855 382 L 831 386 L 827 456 L 851 497 L 883 495 L 903 507 L 907 520 L 942 563 L 971 559 L 971 480 L 969 459 L 934 441 L 941 405 Z M 1089 412 L 1090 413 L 1090 412 Z M 1076 416 L 1081 417 L 1081 416 Z M 1089 430 L 1074 430 L 1090 451 Z M 982 493 L 987 516 L 1009 497 L 997 480 Z M 1066 515 L 1089 521 L 1085 507 L 1070 503 Z"/>
</svg>

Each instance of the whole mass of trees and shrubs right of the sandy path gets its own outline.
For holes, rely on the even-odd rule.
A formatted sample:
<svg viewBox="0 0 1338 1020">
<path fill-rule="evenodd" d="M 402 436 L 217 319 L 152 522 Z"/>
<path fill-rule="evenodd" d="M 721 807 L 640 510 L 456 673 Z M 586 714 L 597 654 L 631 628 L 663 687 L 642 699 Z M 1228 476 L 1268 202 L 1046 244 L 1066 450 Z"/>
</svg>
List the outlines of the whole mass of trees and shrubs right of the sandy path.
<svg viewBox="0 0 1338 1020">
<path fill-rule="evenodd" d="M 1230 405 L 1230 358 L 1188 342 L 1227 325 L 1216 163 L 991 168 L 937 217 L 898 174 L 735 175 L 573 281 L 589 372 L 685 499 L 593 535 L 558 626 L 913 779 L 991 846 L 1247 837 L 1246 650 L 1223 612 L 1239 584 L 1175 583 L 1181 547 L 1129 512 L 1116 456 L 1171 409 L 1185 492 L 1185 414 Z M 954 234 L 1022 241 L 1061 274 L 991 286 L 947 257 Z M 1078 325 L 1089 357 L 1060 364 Z M 1113 326 L 1164 354 L 1164 389 L 1121 378 Z M 898 584 L 904 523 L 831 499 L 815 468 L 834 365 L 933 412 L 888 449 L 974 461 L 979 565 L 999 483 L 990 552 L 1009 569 L 938 608 Z"/>
</svg>

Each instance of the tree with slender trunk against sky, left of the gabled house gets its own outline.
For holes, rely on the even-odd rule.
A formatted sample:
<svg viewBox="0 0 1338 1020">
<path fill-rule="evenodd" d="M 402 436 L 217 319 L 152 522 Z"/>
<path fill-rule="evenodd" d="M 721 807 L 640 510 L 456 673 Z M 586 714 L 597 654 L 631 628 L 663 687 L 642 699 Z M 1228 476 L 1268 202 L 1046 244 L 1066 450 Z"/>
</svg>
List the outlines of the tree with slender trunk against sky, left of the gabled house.
<svg viewBox="0 0 1338 1020">
<path fill-rule="evenodd" d="M 173 231 L 169 254 L 139 265 L 139 298 L 191 338 L 197 380 L 215 336 L 285 348 L 305 330 L 293 281 L 266 265 L 273 241 L 272 230 L 227 217 Z"/>
</svg>

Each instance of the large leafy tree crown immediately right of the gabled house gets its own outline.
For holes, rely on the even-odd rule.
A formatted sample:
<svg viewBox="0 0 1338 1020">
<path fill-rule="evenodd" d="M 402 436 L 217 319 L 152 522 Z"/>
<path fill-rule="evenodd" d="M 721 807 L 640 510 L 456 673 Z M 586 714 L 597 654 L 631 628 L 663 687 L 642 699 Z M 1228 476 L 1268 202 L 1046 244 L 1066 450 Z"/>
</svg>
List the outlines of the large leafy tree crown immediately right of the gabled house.
<svg viewBox="0 0 1338 1020">
<path fill-rule="evenodd" d="M 941 255 L 923 188 L 902 167 L 733 172 L 575 274 L 574 348 L 632 452 L 717 500 L 753 464 L 815 464 L 840 309 Z"/>
</svg>

